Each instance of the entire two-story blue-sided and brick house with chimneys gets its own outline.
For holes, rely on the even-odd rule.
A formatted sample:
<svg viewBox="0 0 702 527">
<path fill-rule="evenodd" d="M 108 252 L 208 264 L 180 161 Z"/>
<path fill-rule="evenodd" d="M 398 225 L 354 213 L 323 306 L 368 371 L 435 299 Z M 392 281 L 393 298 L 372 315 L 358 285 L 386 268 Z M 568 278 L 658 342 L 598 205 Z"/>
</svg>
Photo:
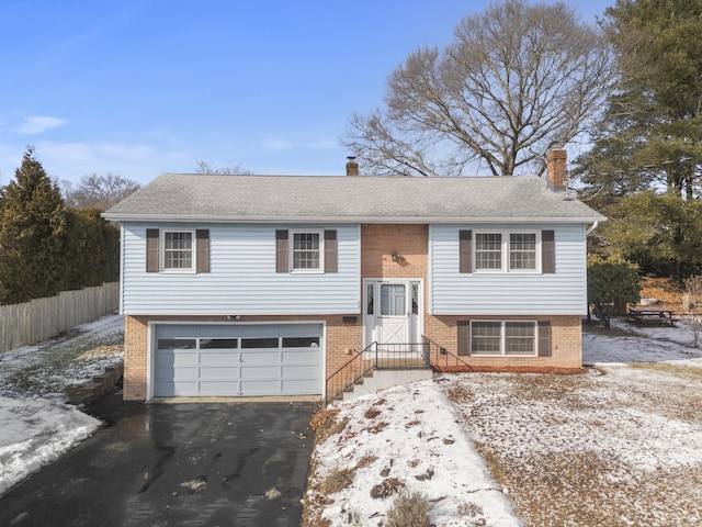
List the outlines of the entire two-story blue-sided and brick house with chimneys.
<svg viewBox="0 0 702 527">
<path fill-rule="evenodd" d="M 122 231 L 124 397 L 328 397 L 350 362 L 397 354 L 581 368 L 586 236 L 604 218 L 569 198 L 565 150 L 546 172 L 366 177 L 351 158 L 346 177 L 158 177 L 104 214 Z"/>
</svg>

